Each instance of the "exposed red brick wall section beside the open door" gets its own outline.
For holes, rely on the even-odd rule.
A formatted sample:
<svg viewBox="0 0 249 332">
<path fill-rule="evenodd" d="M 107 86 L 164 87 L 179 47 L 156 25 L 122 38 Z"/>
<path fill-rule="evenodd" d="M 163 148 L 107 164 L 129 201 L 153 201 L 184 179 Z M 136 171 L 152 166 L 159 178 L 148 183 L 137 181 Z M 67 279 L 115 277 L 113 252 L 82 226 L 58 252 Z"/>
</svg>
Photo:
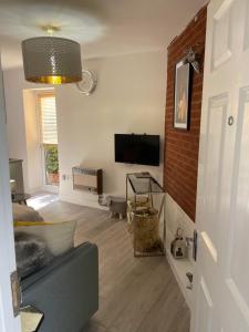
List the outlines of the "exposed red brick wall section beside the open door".
<svg viewBox="0 0 249 332">
<path fill-rule="evenodd" d="M 167 93 L 165 115 L 165 166 L 166 191 L 195 221 L 196 189 L 199 149 L 200 110 L 203 95 L 201 73 L 193 74 L 189 131 L 173 127 L 175 65 L 190 46 L 200 54 L 203 66 L 206 37 L 206 7 L 190 21 L 185 31 L 168 46 Z"/>
</svg>

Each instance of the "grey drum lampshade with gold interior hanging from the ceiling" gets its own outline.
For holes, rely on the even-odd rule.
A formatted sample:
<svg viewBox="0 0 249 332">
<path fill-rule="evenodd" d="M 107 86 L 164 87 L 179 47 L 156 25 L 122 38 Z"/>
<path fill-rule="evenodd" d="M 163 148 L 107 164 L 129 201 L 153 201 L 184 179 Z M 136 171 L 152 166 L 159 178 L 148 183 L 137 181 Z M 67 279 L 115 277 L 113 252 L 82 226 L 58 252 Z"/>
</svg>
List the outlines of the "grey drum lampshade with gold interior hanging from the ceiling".
<svg viewBox="0 0 249 332">
<path fill-rule="evenodd" d="M 38 37 L 22 42 L 25 80 L 64 84 L 82 80 L 81 48 L 73 40 Z"/>
</svg>

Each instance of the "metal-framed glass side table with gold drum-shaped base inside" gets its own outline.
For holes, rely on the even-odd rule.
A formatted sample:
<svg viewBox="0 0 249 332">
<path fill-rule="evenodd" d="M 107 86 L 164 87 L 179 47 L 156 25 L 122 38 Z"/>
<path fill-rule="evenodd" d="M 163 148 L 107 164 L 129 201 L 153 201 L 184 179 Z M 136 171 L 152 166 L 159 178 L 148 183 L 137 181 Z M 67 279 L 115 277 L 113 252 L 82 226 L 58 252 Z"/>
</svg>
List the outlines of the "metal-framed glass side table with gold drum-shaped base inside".
<svg viewBox="0 0 249 332">
<path fill-rule="evenodd" d="M 132 188 L 133 198 L 131 198 L 129 188 Z M 158 195 L 157 199 L 154 199 L 155 195 Z M 145 198 L 142 207 L 139 207 L 138 197 Z M 126 200 L 128 229 L 133 236 L 134 256 L 165 256 L 166 216 L 164 188 L 148 172 L 126 174 Z"/>
</svg>

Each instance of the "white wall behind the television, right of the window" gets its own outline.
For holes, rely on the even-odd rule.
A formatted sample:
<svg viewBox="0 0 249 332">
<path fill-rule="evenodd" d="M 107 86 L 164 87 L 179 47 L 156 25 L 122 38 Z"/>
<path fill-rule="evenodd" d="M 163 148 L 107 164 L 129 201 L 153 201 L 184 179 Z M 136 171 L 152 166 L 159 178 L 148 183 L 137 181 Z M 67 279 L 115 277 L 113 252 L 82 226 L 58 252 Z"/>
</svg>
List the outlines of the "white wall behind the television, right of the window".
<svg viewBox="0 0 249 332">
<path fill-rule="evenodd" d="M 103 168 L 104 194 L 124 195 L 125 175 L 149 170 L 163 181 L 166 53 L 143 53 L 85 61 L 98 77 L 96 91 L 85 96 L 75 85 L 56 89 L 60 198 L 96 206 L 92 194 L 73 190 L 72 167 Z M 114 133 L 159 134 L 160 166 L 114 163 Z"/>
</svg>

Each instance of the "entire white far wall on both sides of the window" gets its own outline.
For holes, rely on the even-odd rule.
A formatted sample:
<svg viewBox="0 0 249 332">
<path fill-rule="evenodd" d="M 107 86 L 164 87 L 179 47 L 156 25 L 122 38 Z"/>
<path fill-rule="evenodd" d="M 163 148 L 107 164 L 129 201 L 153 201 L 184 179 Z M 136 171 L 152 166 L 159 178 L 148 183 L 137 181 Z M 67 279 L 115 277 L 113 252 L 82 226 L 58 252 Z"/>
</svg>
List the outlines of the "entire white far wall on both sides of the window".
<svg viewBox="0 0 249 332">
<path fill-rule="evenodd" d="M 55 89 L 60 172 L 69 178 L 61 177 L 61 199 L 97 206 L 94 195 L 72 188 L 72 167 L 79 164 L 104 169 L 107 195 L 124 195 L 128 172 L 149 170 L 163 181 L 166 63 L 166 52 L 85 61 L 83 66 L 97 75 L 94 94 L 85 96 L 74 84 Z M 38 133 L 34 113 L 28 111 L 33 104 L 32 92 L 28 90 L 44 89 L 44 85 L 25 82 L 23 70 L 12 69 L 4 72 L 4 87 L 9 155 L 23 159 L 25 190 L 33 191 L 39 187 L 41 175 L 34 167 L 39 158 Z M 115 164 L 114 133 L 159 134 L 160 166 Z"/>
</svg>

